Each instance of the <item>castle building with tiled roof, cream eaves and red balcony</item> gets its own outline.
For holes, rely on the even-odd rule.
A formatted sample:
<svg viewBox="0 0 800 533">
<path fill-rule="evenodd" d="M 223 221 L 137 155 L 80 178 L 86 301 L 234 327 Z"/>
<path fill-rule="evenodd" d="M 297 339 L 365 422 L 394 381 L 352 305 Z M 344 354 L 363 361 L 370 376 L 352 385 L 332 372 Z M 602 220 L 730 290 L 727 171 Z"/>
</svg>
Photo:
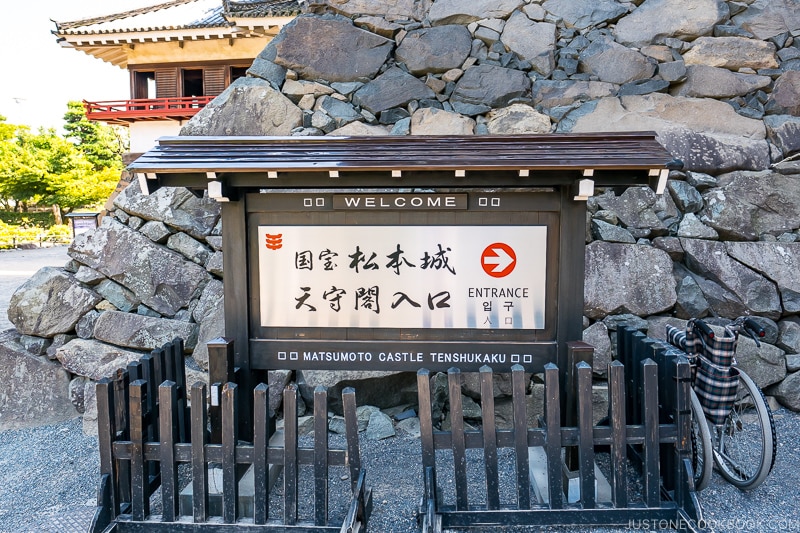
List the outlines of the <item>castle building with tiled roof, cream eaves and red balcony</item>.
<svg viewBox="0 0 800 533">
<path fill-rule="evenodd" d="M 297 0 L 167 0 L 106 16 L 55 22 L 53 34 L 130 73 L 130 95 L 86 102 L 86 116 L 130 131 L 131 153 L 151 148 L 234 80 L 299 13 Z"/>
</svg>

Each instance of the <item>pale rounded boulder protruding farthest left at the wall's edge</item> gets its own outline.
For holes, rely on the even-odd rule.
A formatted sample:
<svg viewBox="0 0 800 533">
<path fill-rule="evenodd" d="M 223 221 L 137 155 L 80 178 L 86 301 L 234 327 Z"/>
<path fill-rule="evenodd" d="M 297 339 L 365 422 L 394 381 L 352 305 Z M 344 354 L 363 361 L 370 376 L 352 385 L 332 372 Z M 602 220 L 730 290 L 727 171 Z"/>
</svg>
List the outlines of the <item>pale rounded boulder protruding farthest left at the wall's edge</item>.
<svg viewBox="0 0 800 533">
<path fill-rule="evenodd" d="M 75 329 L 78 320 L 100 300 L 100 295 L 69 272 L 44 267 L 11 296 L 8 320 L 22 334 L 50 338 Z"/>
</svg>

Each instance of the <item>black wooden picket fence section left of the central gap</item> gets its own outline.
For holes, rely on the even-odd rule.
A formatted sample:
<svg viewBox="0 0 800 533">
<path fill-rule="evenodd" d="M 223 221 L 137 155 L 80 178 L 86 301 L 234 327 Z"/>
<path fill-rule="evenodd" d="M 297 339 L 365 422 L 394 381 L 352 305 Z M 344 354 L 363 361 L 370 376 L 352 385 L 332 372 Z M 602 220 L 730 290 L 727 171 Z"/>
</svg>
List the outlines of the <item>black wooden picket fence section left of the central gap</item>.
<svg viewBox="0 0 800 533">
<path fill-rule="evenodd" d="M 221 388 L 221 442 L 211 443 L 204 383 L 191 387 L 186 397 L 183 343 L 176 340 L 128 366 L 115 380 L 97 385 L 101 483 L 98 509 L 91 531 L 362 531 L 371 509 L 358 447 L 355 391 L 342 394 L 346 448 L 328 445 L 328 398 L 324 388 L 314 391 L 312 447 L 298 443 L 295 386 L 283 391 L 285 416 L 282 445 L 271 444 L 274 415 L 268 414 L 269 389 L 258 385 L 253 393 L 252 441 L 239 440 L 238 386 Z M 155 387 L 155 383 L 160 383 Z M 190 400 L 190 401 L 187 401 Z M 189 405 L 193 408 L 190 409 Z M 181 514 L 179 467 L 189 465 L 189 512 Z M 313 465 L 302 474 L 303 465 Z M 270 468 L 283 470 L 282 516 L 270 513 Z M 212 467 L 221 467 L 220 512 L 210 505 Z M 347 506 L 336 524 L 328 505 L 329 467 L 346 467 L 350 479 Z M 252 514 L 240 500 L 243 472 L 252 468 Z M 185 469 L 186 470 L 186 469 Z M 309 479 L 306 479 L 309 478 Z M 313 487 L 313 510 L 299 512 L 298 488 Z M 160 489 L 160 512 L 151 512 L 151 500 Z M 342 519 L 343 517 L 343 519 Z"/>
</svg>

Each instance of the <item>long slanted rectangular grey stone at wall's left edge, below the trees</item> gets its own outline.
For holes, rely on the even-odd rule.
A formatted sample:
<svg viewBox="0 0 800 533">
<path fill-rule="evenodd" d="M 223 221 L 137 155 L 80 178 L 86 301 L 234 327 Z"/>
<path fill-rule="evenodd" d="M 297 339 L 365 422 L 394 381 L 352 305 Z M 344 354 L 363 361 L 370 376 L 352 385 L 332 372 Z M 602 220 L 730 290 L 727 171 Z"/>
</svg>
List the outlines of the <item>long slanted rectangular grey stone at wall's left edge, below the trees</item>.
<svg viewBox="0 0 800 533">
<path fill-rule="evenodd" d="M 78 235 L 69 254 L 132 291 L 146 306 L 167 316 L 174 316 L 180 308 L 186 307 L 209 279 L 202 266 L 110 217 L 104 218 L 96 231 Z"/>
</svg>

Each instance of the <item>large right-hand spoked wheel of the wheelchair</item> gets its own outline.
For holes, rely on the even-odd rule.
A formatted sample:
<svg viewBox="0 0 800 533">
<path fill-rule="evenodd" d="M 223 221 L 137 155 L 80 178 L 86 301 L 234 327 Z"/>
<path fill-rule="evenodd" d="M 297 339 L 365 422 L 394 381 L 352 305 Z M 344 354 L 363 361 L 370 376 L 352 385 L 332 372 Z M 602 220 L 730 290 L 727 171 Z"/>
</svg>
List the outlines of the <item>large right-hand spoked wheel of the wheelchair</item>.
<svg viewBox="0 0 800 533">
<path fill-rule="evenodd" d="M 764 393 L 739 370 L 736 403 L 714 428 L 714 462 L 720 474 L 741 490 L 758 487 L 775 463 L 775 421 Z"/>
</svg>

